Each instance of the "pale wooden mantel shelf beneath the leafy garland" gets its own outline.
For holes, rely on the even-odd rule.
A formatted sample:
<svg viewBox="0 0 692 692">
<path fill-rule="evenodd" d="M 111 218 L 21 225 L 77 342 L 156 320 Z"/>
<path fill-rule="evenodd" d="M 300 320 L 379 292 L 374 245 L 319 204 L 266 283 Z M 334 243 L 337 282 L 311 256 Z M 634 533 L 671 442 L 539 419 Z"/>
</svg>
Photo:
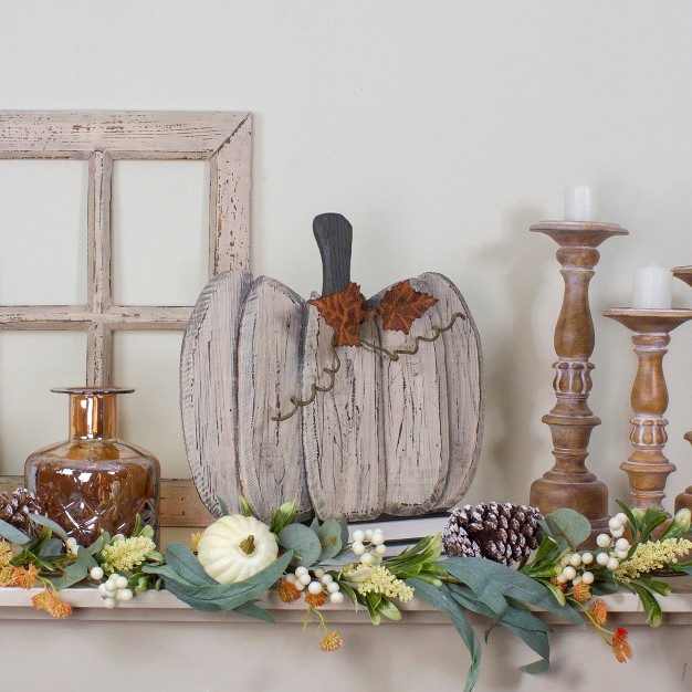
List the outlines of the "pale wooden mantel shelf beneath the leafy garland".
<svg viewBox="0 0 692 692">
<path fill-rule="evenodd" d="M 692 577 L 679 577 L 669 579 L 673 593 L 668 597 L 659 597 L 663 610 L 664 625 L 692 625 Z M 31 605 L 31 597 L 42 589 L 0 588 L 0 620 L 17 619 L 43 619 L 52 618 L 39 611 Z M 71 619 L 86 621 L 126 621 L 138 622 L 255 622 L 253 618 L 237 612 L 209 612 L 195 610 L 187 604 L 178 600 L 168 591 L 147 591 L 139 594 L 132 601 L 118 602 L 114 609 L 107 609 L 103 599 L 94 588 L 71 588 L 60 593 L 61 600 L 73 607 Z M 630 593 L 611 594 L 604 596 L 602 600 L 608 608 L 612 622 L 618 625 L 643 625 L 646 622 L 643 610 L 639 599 Z M 270 594 L 265 599 L 258 602 L 259 606 L 269 610 L 277 622 L 303 621 L 305 617 L 305 604 L 298 599 L 292 604 L 283 604 L 276 594 Z M 402 625 L 433 625 L 447 623 L 448 618 L 434 610 L 426 602 L 413 599 L 401 606 L 403 618 L 400 622 L 392 622 L 398 627 Z M 354 611 L 348 602 L 342 605 L 328 605 L 323 609 L 328 615 L 331 623 L 363 623 L 370 625 L 365 609 Z M 542 619 L 552 626 L 568 622 L 548 612 L 538 614 Z M 475 619 L 474 616 L 471 616 Z M 389 620 L 382 618 L 382 623 Z"/>
</svg>

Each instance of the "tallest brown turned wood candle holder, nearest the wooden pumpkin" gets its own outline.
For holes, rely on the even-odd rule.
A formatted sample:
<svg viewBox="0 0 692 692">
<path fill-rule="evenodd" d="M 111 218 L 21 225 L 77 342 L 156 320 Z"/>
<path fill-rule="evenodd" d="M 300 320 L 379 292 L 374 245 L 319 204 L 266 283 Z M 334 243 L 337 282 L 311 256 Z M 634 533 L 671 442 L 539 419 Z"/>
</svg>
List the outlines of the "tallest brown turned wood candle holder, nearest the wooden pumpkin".
<svg viewBox="0 0 692 692">
<path fill-rule="evenodd" d="M 557 261 L 565 280 L 563 306 L 555 328 L 555 397 L 553 410 L 543 417 L 551 428 L 555 465 L 531 486 L 531 504 L 544 514 L 570 507 L 591 522 L 593 534 L 608 525 L 608 489 L 588 471 L 585 460 L 591 430 L 600 424 L 588 407 L 591 390 L 589 357 L 594 353 L 594 322 L 588 286 L 600 255 L 596 248 L 628 231 L 615 223 L 543 221 L 531 227 L 557 244 Z"/>
</svg>

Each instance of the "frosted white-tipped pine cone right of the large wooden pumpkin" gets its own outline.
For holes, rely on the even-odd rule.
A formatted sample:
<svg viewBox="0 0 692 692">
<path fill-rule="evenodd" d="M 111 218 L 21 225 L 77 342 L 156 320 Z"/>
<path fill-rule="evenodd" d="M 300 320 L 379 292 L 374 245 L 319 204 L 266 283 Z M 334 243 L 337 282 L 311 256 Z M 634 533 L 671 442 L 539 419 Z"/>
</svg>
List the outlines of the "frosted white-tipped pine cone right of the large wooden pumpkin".
<svg viewBox="0 0 692 692">
<path fill-rule="evenodd" d="M 442 532 L 448 555 L 487 557 L 512 565 L 538 547 L 535 537 L 543 515 L 537 507 L 512 503 L 466 504 L 454 510 Z"/>
</svg>

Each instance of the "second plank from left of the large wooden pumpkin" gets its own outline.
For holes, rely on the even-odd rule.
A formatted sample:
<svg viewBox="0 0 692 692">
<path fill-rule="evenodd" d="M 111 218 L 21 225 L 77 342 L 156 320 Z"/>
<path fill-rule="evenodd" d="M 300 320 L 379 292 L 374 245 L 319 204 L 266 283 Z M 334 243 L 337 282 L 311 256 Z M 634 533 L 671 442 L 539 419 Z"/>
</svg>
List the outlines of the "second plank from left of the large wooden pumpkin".
<svg viewBox="0 0 692 692">
<path fill-rule="evenodd" d="M 302 413 L 272 416 L 297 396 L 303 338 L 303 298 L 269 276 L 256 279 L 243 303 L 238 339 L 239 463 L 245 500 L 269 521 L 283 502 L 298 501 L 312 515 L 305 480 Z M 283 409 L 283 410 L 282 410 Z"/>
</svg>

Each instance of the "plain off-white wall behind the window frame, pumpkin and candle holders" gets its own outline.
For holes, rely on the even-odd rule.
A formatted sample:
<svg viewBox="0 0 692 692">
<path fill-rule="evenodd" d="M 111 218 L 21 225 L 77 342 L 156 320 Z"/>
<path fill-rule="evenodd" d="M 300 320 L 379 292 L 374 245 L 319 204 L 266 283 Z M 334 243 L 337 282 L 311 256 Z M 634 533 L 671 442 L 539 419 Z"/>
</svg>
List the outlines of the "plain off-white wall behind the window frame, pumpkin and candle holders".
<svg viewBox="0 0 692 692">
<path fill-rule="evenodd" d="M 591 401 L 604 424 L 590 459 L 611 496 L 626 495 L 618 464 L 629 453 L 636 361 L 629 334 L 599 315 L 627 304 L 635 268 L 692 264 L 690 3 L 39 1 L 6 7 L 2 25 L 2 108 L 252 111 L 256 274 L 303 295 L 318 289 L 312 218 L 340 211 L 355 228 L 353 276 L 365 293 L 428 270 L 460 286 L 481 332 L 487 386 L 472 501 L 526 501 L 551 464 L 541 417 L 553 405 L 562 283 L 553 242 L 527 228 L 560 218 L 565 186 L 597 186 L 602 220 L 631 235 L 602 247 L 593 284 Z M 69 189 L 83 185 L 82 174 L 46 184 L 60 191 L 51 202 L 57 222 L 21 200 L 14 164 L 0 166 L 0 238 L 10 248 L 0 258 L 0 301 L 18 276 L 52 275 L 18 272 L 27 238 L 53 243 L 48 258 L 66 266 L 57 283 L 78 293 L 71 258 L 83 252 L 75 229 L 84 209 Z M 171 245 L 187 242 L 188 229 L 202 237 L 205 171 L 188 168 L 176 181 L 161 169 L 150 188 L 137 184 L 138 171 L 128 175 L 122 192 L 138 213 L 120 209 L 130 232 L 120 251 L 151 260 L 130 264 L 127 291 L 167 281 L 166 272 L 149 275 L 158 249 L 169 281 L 185 273 L 191 302 L 198 260 Z M 199 211 L 171 213 L 159 200 L 171 192 Z M 158 240 L 147 245 L 141 235 L 154 227 Z M 70 242 L 56 242 L 59 232 Z M 677 302 L 692 305 L 678 283 Z M 692 483 L 692 450 L 681 439 L 692 424 L 692 327 L 673 336 L 669 455 L 680 471 L 671 497 Z M 128 335 L 118 346 L 119 378 L 140 391 L 125 403 L 125 433 L 157 451 L 167 475 L 186 472 L 179 434 L 165 430 L 178 424 L 179 338 L 144 346 Z M 48 387 L 77 384 L 81 344 L 51 339 L 0 336 L 0 473 L 18 473 L 27 453 L 63 434 L 64 402 Z M 48 421 L 43 429 L 34 417 Z"/>
</svg>

